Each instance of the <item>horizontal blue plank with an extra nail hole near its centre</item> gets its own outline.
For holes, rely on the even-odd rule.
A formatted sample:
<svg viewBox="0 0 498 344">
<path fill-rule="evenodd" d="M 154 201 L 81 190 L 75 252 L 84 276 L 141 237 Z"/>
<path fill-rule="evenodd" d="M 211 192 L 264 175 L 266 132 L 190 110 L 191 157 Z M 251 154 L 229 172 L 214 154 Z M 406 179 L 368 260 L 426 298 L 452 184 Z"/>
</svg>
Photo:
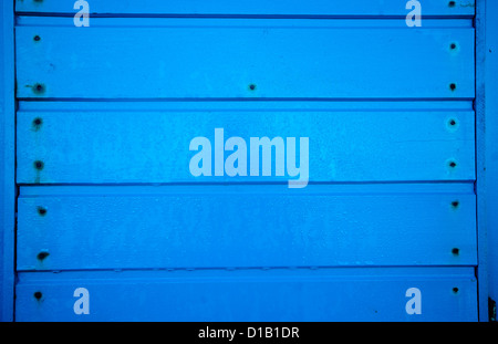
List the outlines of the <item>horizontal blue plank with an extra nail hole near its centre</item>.
<svg viewBox="0 0 498 344">
<path fill-rule="evenodd" d="M 82 29 L 46 20 L 15 30 L 18 97 L 475 96 L 471 25 L 104 18 Z"/>
</svg>

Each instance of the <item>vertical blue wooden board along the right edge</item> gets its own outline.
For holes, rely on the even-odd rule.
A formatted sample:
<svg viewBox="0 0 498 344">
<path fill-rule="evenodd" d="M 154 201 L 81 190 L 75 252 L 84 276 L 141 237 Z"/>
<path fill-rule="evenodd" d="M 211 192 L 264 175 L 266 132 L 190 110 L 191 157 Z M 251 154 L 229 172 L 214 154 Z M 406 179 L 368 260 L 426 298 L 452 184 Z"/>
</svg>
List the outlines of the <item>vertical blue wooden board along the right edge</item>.
<svg viewBox="0 0 498 344">
<path fill-rule="evenodd" d="M 498 82 L 498 23 L 495 13 L 498 11 L 496 1 L 479 1 L 478 13 L 479 41 L 477 53 L 478 64 L 478 90 L 477 118 L 479 123 L 478 132 L 478 195 L 479 195 L 479 263 L 483 285 L 479 281 L 479 300 L 483 304 L 481 320 L 486 321 L 490 316 L 486 314 L 488 296 L 498 301 L 498 100 L 496 90 Z M 487 280 L 488 279 L 488 280 Z M 485 283 L 487 282 L 487 283 Z M 490 304 L 491 311 L 496 303 Z"/>
</svg>

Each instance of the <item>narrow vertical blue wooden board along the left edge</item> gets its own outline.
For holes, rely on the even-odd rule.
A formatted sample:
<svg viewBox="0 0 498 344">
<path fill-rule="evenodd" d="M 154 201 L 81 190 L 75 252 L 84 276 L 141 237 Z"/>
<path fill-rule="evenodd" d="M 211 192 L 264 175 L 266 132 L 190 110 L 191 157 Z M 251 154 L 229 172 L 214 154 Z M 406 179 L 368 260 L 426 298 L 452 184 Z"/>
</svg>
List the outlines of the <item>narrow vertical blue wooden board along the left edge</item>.
<svg viewBox="0 0 498 344">
<path fill-rule="evenodd" d="M 12 1 L 0 3 L 0 321 L 12 321 L 15 227 L 15 77 Z"/>
</svg>

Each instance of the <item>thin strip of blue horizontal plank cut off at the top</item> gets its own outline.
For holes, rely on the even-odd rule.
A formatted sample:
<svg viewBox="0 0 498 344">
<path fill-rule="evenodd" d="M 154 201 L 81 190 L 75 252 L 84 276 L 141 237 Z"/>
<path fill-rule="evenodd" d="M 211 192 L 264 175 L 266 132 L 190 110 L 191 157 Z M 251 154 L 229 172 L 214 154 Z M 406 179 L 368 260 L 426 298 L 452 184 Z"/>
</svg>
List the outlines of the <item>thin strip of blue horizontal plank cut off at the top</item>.
<svg viewBox="0 0 498 344">
<path fill-rule="evenodd" d="M 93 0 L 90 13 L 95 14 L 300 14 L 300 15 L 406 15 L 407 1 L 330 1 L 330 0 Z M 423 15 L 473 15 L 474 0 L 422 2 Z M 17 0 L 18 13 L 75 13 L 73 2 Z"/>
</svg>

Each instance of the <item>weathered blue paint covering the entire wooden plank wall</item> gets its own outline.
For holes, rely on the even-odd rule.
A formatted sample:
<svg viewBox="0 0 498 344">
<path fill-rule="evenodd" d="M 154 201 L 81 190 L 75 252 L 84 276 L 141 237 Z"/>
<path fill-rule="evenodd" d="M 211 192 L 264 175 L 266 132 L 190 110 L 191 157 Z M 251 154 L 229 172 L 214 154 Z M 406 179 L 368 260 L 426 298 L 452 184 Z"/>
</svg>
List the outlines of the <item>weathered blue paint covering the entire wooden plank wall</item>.
<svg viewBox="0 0 498 344">
<path fill-rule="evenodd" d="M 19 321 L 487 320 L 495 3 L 424 2 L 408 29 L 391 1 L 110 0 L 76 29 L 71 3 L 17 0 L 14 128 L 7 2 L 2 320 L 15 133 Z M 188 143 L 215 127 L 310 137 L 310 185 L 191 177 Z M 405 312 L 414 286 L 419 315 Z"/>
</svg>

